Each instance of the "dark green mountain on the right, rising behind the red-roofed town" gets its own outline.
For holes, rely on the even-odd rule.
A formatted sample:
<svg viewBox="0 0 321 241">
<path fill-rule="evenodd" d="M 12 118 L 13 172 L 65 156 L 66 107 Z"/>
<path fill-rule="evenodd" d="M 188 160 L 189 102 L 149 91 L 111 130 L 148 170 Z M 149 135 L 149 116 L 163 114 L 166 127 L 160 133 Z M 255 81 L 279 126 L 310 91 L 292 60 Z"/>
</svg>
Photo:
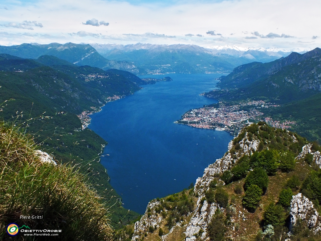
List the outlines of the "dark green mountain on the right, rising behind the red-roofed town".
<svg viewBox="0 0 321 241">
<path fill-rule="evenodd" d="M 321 49 L 305 54 L 291 53 L 269 63 L 253 62 L 222 76 L 215 90 L 205 96 L 229 100 L 270 99 L 287 103 L 321 91 Z"/>
</svg>

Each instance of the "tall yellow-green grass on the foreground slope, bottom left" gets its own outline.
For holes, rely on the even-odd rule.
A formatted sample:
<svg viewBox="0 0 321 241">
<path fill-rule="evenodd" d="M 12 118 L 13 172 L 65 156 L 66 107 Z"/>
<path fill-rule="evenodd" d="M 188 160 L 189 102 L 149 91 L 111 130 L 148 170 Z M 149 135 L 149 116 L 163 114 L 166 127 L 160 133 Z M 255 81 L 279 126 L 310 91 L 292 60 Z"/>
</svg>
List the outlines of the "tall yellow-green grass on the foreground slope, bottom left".
<svg viewBox="0 0 321 241">
<path fill-rule="evenodd" d="M 20 215 L 43 216 L 42 222 L 24 220 L 32 229 L 68 230 L 59 240 L 111 240 L 108 206 L 79 166 L 42 163 L 35 155 L 40 147 L 18 127 L 1 123 L 0 133 L 1 240 L 8 223 L 21 223 Z"/>
</svg>

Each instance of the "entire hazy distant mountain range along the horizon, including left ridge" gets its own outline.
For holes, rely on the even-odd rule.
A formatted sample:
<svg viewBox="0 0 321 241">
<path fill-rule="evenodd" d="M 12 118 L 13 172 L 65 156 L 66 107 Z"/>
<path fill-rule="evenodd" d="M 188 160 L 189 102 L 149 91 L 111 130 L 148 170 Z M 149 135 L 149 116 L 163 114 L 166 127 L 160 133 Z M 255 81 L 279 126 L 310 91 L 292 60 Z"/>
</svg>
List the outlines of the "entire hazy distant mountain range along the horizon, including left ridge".
<svg viewBox="0 0 321 241">
<path fill-rule="evenodd" d="M 288 56 L 292 50 L 197 45 L 159 44 L 21 44 L 0 46 L 0 53 L 21 58 L 51 55 L 77 66 L 104 70 L 115 68 L 135 75 L 148 74 L 229 74 L 235 67 L 253 61 L 270 62 Z"/>
</svg>

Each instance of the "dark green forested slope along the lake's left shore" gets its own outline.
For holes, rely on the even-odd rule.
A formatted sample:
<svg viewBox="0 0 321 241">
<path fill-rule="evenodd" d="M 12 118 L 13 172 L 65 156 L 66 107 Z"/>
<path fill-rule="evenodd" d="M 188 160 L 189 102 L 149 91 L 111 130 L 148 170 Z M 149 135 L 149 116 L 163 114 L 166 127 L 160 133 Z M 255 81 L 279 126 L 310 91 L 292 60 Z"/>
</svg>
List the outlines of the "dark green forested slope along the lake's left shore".
<svg viewBox="0 0 321 241">
<path fill-rule="evenodd" d="M 27 65 L 25 65 L 25 63 L 27 63 Z M 33 64 L 33 60 L 31 63 Z M 23 67 L 30 68 L 30 61 L 24 61 Z M 57 68 L 68 69 L 67 66 Z M 98 70 L 105 72 L 91 67 L 76 68 L 78 69 L 72 69 L 73 73 L 78 70 L 78 72 L 76 72 L 77 74 L 88 75 L 92 73 L 88 70 L 92 69 L 96 70 L 96 72 Z M 109 79 L 106 81 L 110 83 L 106 85 L 111 95 L 130 94 L 134 92 L 134 90 L 139 89 L 139 87 L 129 79 L 129 77 L 133 77 L 134 75 L 128 73 L 129 77 L 121 76 L 120 74 L 123 71 L 119 72 L 118 76 L 114 74 L 112 70 L 107 74 Z M 57 80 L 61 80 L 62 84 L 55 88 L 54 81 L 58 82 Z M 1 71 L 0 102 L 11 98 L 14 99 L 2 105 L 1 118 L 6 121 L 16 121 L 15 123 L 22 123 L 29 118 L 36 118 L 28 121 L 27 131 L 33 133 L 35 141 L 41 143 L 41 148 L 54 155 L 59 162 L 67 163 L 72 161 L 74 164 L 82 163 L 82 171 L 89 176 L 89 180 L 95 185 L 95 188 L 100 194 L 104 196 L 105 200 L 109 202 L 109 205 L 116 203 L 112 207 L 111 216 L 112 225 L 116 227 L 120 225 L 119 220 L 122 220 L 125 224 L 130 220 L 136 219 L 138 214 L 133 211 L 128 212 L 128 210 L 121 207 L 120 196 L 112 190 L 107 171 L 98 162 L 102 145 L 106 145 L 106 141 L 89 129 L 77 131 L 81 129 L 81 122 L 76 116 L 76 113 L 84 109 L 91 110 L 91 106 L 99 107 L 101 103 L 86 99 L 86 95 L 92 94 L 98 96 L 100 94 L 99 92 L 95 92 L 95 88 L 99 88 L 98 82 L 85 82 L 78 78 L 76 81 L 77 82 L 75 82 L 73 76 L 49 67 L 29 69 L 23 73 Z M 84 85 L 79 84 L 81 81 Z M 117 81 L 122 84 L 118 85 Z M 84 94 L 85 97 L 74 98 L 75 92 L 70 91 L 69 93 L 65 93 L 59 90 L 61 86 L 70 88 L 68 83 L 70 85 L 74 84 L 74 88 L 78 93 L 82 92 L 79 94 L 80 97 L 81 94 Z M 88 83 L 91 85 L 88 85 Z M 46 88 L 47 85 L 48 87 Z M 72 90 L 73 88 L 70 89 Z M 106 93 L 105 96 L 107 97 L 108 94 Z M 64 105 L 65 108 L 61 108 L 62 105 Z M 60 111 L 64 111 L 65 114 L 59 114 L 58 112 Z M 39 116 L 42 117 L 38 118 Z M 91 163 L 89 164 L 90 161 Z"/>
</svg>

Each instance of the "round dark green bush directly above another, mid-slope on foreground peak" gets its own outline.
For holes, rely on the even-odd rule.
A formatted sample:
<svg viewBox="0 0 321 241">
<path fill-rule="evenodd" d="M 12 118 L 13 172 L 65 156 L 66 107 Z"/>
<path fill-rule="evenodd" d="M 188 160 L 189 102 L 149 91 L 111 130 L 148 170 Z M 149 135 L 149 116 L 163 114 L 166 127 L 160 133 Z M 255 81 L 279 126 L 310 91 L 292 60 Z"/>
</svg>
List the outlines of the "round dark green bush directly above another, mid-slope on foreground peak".
<svg viewBox="0 0 321 241">
<path fill-rule="evenodd" d="M 251 185 L 257 185 L 263 190 L 263 192 L 265 192 L 267 189 L 268 183 L 269 183 L 269 178 L 266 172 L 264 171 L 264 169 L 260 167 L 256 167 L 254 168 L 253 171 L 247 174 L 247 177 L 244 183 L 244 190 L 247 190 L 247 188 Z"/>
</svg>

